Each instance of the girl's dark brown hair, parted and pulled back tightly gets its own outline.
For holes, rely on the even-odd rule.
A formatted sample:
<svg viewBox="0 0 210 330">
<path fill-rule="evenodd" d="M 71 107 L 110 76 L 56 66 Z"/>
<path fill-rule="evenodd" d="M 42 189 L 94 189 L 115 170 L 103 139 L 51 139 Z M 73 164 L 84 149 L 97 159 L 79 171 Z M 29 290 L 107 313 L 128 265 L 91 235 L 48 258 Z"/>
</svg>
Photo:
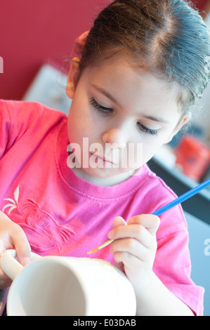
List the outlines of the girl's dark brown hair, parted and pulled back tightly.
<svg viewBox="0 0 210 330">
<path fill-rule="evenodd" d="M 81 72 L 129 52 L 136 65 L 181 85 L 184 112 L 209 82 L 209 32 L 183 0 L 116 0 L 98 15 L 80 51 Z"/>
</svg>

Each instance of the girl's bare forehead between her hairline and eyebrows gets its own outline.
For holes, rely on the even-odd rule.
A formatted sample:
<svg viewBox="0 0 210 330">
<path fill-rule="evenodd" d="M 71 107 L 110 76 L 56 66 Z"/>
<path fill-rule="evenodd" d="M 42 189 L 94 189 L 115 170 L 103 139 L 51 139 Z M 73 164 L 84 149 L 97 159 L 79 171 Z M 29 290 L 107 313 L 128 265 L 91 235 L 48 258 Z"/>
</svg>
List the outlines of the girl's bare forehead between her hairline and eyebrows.
<svg viewBox="0 0 210 330">
<path fill-rule="evenodd" d="M 178 99 L 181 94 L 181 86 L 164 77 L 159 78 L 154 72 L 145 67 L 135 67 L 127 58 L 101 62 L 96 67 L 89 67 L 86 70 L 88 83 L 98 86 L 98 89 L 113 91 L 122 95 L 132 97 L 134 95 L 162 95 L 171 99 Z"/>
</svg>

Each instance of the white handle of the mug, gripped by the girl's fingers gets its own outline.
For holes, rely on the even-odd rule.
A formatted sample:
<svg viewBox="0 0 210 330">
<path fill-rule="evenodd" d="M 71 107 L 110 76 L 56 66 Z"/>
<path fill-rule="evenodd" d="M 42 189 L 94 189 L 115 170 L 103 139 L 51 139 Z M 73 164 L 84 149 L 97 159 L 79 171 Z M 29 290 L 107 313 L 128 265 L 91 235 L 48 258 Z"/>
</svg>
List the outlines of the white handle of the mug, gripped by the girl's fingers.
<svg viewBox="0 0 210 330">
<path fill-rule="evenodd" d="M 36 253 L 31 253 L 31 260 L 38 260 L 41 258 Z M 0 258 L 0 267 L 5 272 L 5 274 L 10 277 L 12 280 L 15 279 L 16 276 L 21 272 L 21 270 L 24 268 L 18 260 L 15 258 L 16 252 L 15 250 L 6 250 L 4 253 L 2 253 Z"/>
</svg>

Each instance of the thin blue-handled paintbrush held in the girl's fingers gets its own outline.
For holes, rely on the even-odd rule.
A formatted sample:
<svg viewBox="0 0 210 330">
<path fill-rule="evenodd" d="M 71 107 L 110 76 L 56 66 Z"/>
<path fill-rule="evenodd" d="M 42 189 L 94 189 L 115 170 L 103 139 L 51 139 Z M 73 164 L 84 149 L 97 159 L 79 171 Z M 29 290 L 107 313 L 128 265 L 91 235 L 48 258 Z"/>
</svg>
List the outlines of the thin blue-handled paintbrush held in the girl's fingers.
<svg viewBox="0 0 210 330">
<path fill-rule="evenodd" d="M 197 187 L 189 190 L 188 192 L 185 192 L 185 194 L 182 194 L 180 197 L 174 199 L 174 201 L 172 201 L 169 204 L 166 204 L 161 209 L 158 209 L 157 211 L 153 212 L 152 214 L 155 215 L 155 216 L 161 216 L 166 211 L 169 211 L 170 209 L 172 209 L 172 207 L 185 202 L 187 199 L 194 196 L 195 194 L 197 194 L 198 192 L 200 192 L 201 190 L 206 188 L 208 185 L 210 185 L 210 179 L 206 180 L 204 183 L 201 183 Z M 96 252 L 100 249 L 103 249 L 105 246 L 111 244 L 112 242 L 113 242 L 113 239 L 109 239 L 107 242 L 101 244 L 96 249 L 93 249 L 93 250 L 89 251 L 88 254 L 91 254 L 91 253 L 94 253 L 94 252 Z"/>
</svg>

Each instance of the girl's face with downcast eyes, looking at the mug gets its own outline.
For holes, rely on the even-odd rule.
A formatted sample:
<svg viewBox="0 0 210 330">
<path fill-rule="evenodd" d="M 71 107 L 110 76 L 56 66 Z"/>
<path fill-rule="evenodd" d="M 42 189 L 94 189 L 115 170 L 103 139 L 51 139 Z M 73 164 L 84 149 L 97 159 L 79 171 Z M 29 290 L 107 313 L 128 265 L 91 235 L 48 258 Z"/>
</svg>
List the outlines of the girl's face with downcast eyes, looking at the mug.
<svg viewBox="0 0 210 330">
<path fill-rule="evenodd" d="M 187 121 L 177 127 L 178 86 L 136 70 L 126 57 L 87 67 L 79 81 L 77 77 L 78 64 L 72 62 L 68 135 L 80 165 L 72 167 L 91 183 L 126 180 Z"/>
</svg>

